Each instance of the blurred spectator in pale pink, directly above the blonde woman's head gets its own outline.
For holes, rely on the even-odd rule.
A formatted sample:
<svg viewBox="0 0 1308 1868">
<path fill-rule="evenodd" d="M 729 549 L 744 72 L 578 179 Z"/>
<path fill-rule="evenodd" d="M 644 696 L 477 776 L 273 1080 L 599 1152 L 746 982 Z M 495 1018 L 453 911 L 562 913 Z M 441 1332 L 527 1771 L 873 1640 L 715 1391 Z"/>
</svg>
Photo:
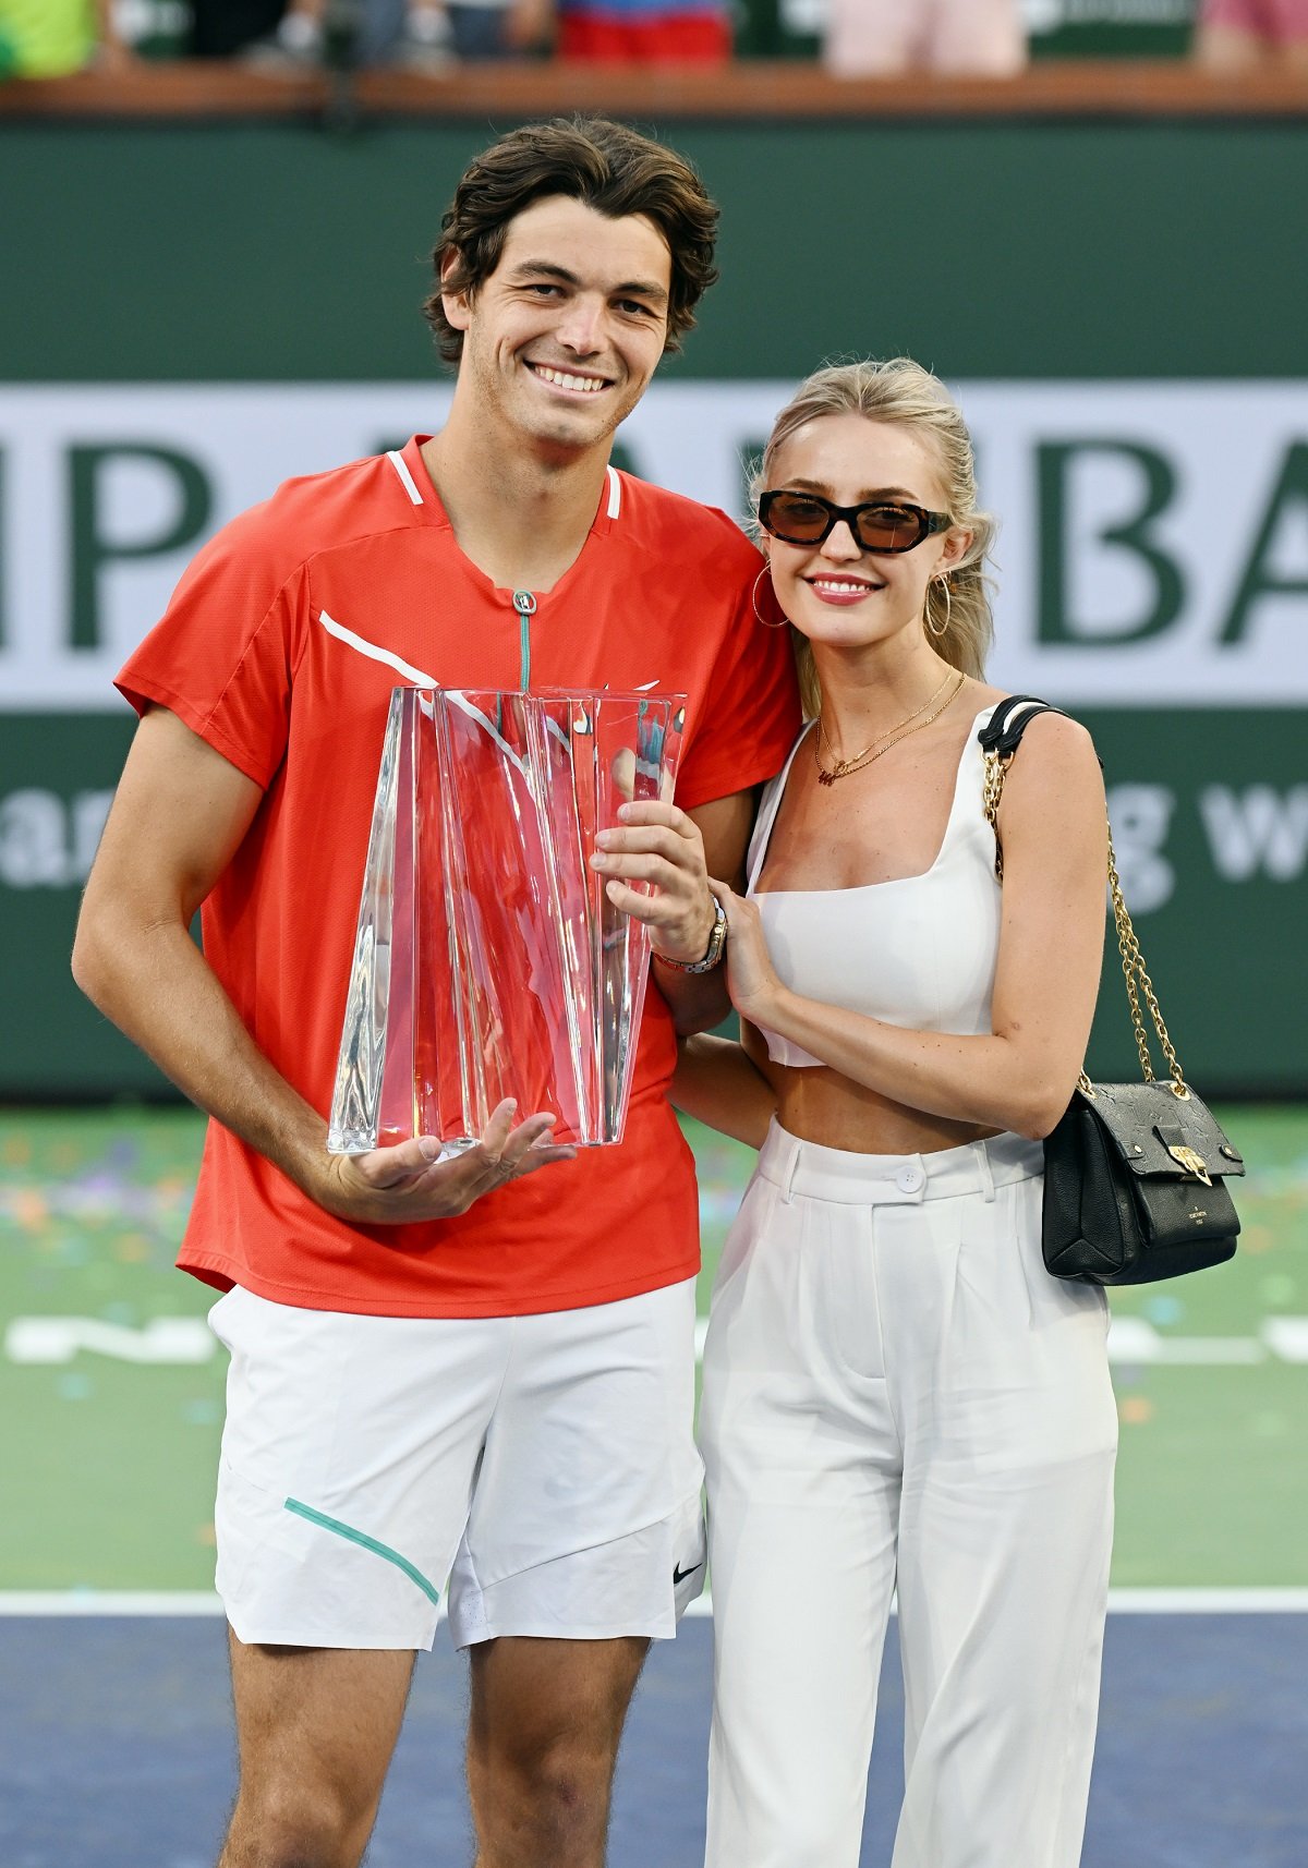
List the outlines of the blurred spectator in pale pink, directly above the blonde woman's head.
<svg viewBox="0 0 1308 1868">
<path fill-rule="evenodd" d="M 837 78 L 947 71 L 1007 78 L 1026 65 L 1020 0 L 830 0 L 822 56 Z"/>
</svg>

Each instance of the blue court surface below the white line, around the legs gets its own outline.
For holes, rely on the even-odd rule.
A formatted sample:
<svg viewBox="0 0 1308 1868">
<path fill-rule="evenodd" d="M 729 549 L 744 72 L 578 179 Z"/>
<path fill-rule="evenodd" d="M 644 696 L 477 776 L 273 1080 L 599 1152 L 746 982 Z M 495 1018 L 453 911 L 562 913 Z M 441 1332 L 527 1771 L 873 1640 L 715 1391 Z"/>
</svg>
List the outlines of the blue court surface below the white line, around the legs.
<svg viewBox="0 0 1308 1868">
<path fill-rule="evenodd" d="M 611 1868 L 701 1861 L 710 1636 L 695 1618 L 654 1646 L 618 1767 Z M 1110 1616 L 1084 1868 L 1302 1868 L 1304 1677 L 1308 1608 Z M 471 1861 L 463 1719 L 463 1666 L 441 1629 L 415 1672 L 370 1868 Z M 234 1788 L 217 1616 L 0 1620 L 0 1728 L 6 1868 L 213 1862 Z M 888 1651 L 863 1868 L 889 1862 L 901 1732 Z"/>
</svg>

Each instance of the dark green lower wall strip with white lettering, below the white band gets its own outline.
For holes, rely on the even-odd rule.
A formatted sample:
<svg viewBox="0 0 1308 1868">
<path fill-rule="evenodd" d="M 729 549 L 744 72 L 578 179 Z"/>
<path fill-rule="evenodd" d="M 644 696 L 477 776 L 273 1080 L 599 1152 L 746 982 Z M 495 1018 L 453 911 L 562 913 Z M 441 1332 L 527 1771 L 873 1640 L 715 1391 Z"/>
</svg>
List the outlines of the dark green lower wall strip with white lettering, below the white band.
<svg viewBox="0 0 1308 1868">
<path fill-rule="evenodd" d="M 1187 1074 L 1211 1093 L 1302 1095 L 1302 719 L 1102 708 L 1080 717 L 1104 760 L 1123 885 Z M 125 710 L 4 719 L 0 1097 L 163 1089 L 69 977 L 80 885 L 131 730 Z M 1130 1076 L 1134 1059 L 1108 947 L 1089 1068 L 1104 1080 Z"/>
</svg>

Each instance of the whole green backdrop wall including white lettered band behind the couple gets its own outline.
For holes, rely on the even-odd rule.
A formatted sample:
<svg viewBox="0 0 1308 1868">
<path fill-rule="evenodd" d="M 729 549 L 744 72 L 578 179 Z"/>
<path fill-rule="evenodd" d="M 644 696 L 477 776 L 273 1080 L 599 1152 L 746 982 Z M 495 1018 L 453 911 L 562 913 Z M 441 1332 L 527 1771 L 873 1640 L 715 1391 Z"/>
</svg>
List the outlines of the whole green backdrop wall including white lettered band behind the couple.
<svg viewBox="0 0 1308 1868">
<path fill-rule="evenodd" d="M 1091 24 L 1069 0 L 1046 30 Z M 112 672 L 215 525 L 441 424 L 426 256 L 503 127 L 0 121 L 24 282 L 0 293 L 2 1095 L 157 1082 L 67 979 L 131 732 Z M 1187 1068 L 1302 1091 L 1308 243 L 1286 202 L 1308 120 L 650 127 L 721 202 L 723 276 L 622 463 L 738 512 L 742 452 L 818 361 L 908 351 L 959 385 L 1003 519 L 994 678 L 1095 729 Z M 919 211 L 873 228 L 858 200 Z M 1091 1065 L 1117 1074 L 1108 986 Z"/>
</svg>

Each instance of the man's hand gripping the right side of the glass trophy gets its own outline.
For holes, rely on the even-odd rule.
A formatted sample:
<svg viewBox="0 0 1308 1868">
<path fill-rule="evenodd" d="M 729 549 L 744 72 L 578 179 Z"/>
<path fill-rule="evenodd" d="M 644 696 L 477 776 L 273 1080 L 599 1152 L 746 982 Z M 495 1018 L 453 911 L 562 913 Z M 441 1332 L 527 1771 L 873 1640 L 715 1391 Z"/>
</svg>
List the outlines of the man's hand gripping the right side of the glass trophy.
<svg viewBox="0 0 1308 1868">
<path fill-rule="evenodd" d="M 699 826 L 676 805 L 652 798 L 620 805 L 618 826 L 596 835 L 590 857 L 609 878 L 605 895 L 648 927 L 654 953 L 703 960 L 716 915 Z M 648 891 L 633 887 L 637 882 Z"/>
</svg>

